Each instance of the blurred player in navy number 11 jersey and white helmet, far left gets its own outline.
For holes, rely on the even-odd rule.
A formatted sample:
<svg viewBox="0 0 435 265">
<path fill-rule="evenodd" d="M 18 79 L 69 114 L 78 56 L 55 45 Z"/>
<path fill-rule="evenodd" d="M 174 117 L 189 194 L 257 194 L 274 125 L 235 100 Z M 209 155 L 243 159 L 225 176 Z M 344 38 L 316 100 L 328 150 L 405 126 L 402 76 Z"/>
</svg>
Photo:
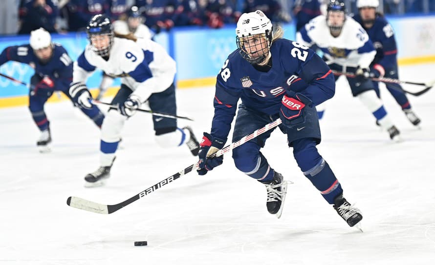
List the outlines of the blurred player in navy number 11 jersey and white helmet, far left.
<svg viewBox="0 0 435 265">
<path fill-rule="evenodd" d="M 37 145 L 41 152 L 50 151 L 50 122 L 44 104 L 54 91 L 62 91 L 69 99 L 68 88 L 72 81 L 72 61 L 65 48 L 51 42 L 50 33 L 40 28 L 30 34 L 30 44 L 10 46 L 0 54 L 0 65 L 7 61 L 29 64 L 35 69 L 30 79 L 29 109 L 32 118 L 41 130 Z M 95 124 L 101 127 L 104 114 L 96 106 L 81 108 Z"/>
</svg>

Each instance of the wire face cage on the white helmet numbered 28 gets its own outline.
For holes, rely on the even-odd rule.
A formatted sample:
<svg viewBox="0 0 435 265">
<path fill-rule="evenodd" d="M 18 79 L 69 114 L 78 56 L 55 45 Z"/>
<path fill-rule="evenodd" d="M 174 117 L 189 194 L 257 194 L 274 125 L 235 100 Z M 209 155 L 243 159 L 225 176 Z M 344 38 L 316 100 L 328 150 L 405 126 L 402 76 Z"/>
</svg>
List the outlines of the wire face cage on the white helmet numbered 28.
<svg viewBox="0 0 435 265">
<path fill-rule="evenodd" d="M 259 64 L 266 60 L 272 44 L 272 34 L 269 30 L 266 33 L 236 36 L 237 47 L 243 59 L 252 64 Z"/>
</svg>

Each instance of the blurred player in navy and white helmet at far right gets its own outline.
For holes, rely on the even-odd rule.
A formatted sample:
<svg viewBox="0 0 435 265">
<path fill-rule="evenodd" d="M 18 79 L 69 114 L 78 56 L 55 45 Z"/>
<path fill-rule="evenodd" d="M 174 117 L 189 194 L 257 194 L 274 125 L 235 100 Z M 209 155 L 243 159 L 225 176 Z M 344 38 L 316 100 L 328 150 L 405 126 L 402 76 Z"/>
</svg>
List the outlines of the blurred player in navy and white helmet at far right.
<svg viewBox="0 0 435 265">
<path fill-rule="evenodd" d="M 369 34 L 370 40 L 376 48 L 376 56 L 370 64 L 371 77 L 387 77 L 399 79 L 397 69 L 397 46 L 394 40 L 394 31 L 388 21 L 380 13 L 376 12 L 379 0 L 358 0 L 358 15 L 353 19 L 360 23 Z M 376 93 L 380 96 L 379 84 L 374 82 Z M 405 92 L 402 91 L 400 84 L 385 83 L 388 91 L 401 106 L 408 120 L 417 126 L 420 119 L 415 115 L 411 108 Z"/>
</svg>

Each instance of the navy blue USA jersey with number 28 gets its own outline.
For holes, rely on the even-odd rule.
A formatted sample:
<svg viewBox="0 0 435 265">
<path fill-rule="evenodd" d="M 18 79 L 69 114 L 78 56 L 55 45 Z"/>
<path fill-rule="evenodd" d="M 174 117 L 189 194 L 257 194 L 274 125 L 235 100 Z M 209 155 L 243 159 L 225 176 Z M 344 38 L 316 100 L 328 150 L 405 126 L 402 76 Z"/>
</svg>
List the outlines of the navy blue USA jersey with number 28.
<svg viewBox="0 0 435 265">
<path fill-rule="evenodd" d="M 239 50 L 228 56 L 218 73 L 211 133 L 226 139 L 239 99 L 246 107 L 268 115 L 278 114 L 283 94 L 302 93 L 314 105 L 335 93 L 335 81 L 326 63 L 311 49 L 295 41 L 278 39 L 270 49 L 272 67 L 254 68 Z"/>
</svg>

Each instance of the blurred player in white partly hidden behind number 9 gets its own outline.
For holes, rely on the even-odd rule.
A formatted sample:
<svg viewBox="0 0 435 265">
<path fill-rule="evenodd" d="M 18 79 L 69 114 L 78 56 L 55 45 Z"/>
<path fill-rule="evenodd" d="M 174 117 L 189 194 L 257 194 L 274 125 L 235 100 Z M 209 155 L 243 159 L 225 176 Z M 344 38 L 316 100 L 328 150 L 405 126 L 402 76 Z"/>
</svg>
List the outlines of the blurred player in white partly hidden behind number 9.
<svg viewBox="0 0 435 265">
<path fill-rule="evenodd" d="M 115 32 L 115 35 L 132 34 L 136 38 L 148 40 L 151 40 L 152 37 L 154 37 L 150 28 L 144 24 L 144 17 L 137 6 L 132 6 L 127 12 L 127 21 L 116 20 L 113 22 L 113 31 Z M 98 87 L 98 96 L 96 100 L 100 100 L 103 97 L 112 83 L 113 78 L 104 73 L 103 79 Z"/>
</svg>

